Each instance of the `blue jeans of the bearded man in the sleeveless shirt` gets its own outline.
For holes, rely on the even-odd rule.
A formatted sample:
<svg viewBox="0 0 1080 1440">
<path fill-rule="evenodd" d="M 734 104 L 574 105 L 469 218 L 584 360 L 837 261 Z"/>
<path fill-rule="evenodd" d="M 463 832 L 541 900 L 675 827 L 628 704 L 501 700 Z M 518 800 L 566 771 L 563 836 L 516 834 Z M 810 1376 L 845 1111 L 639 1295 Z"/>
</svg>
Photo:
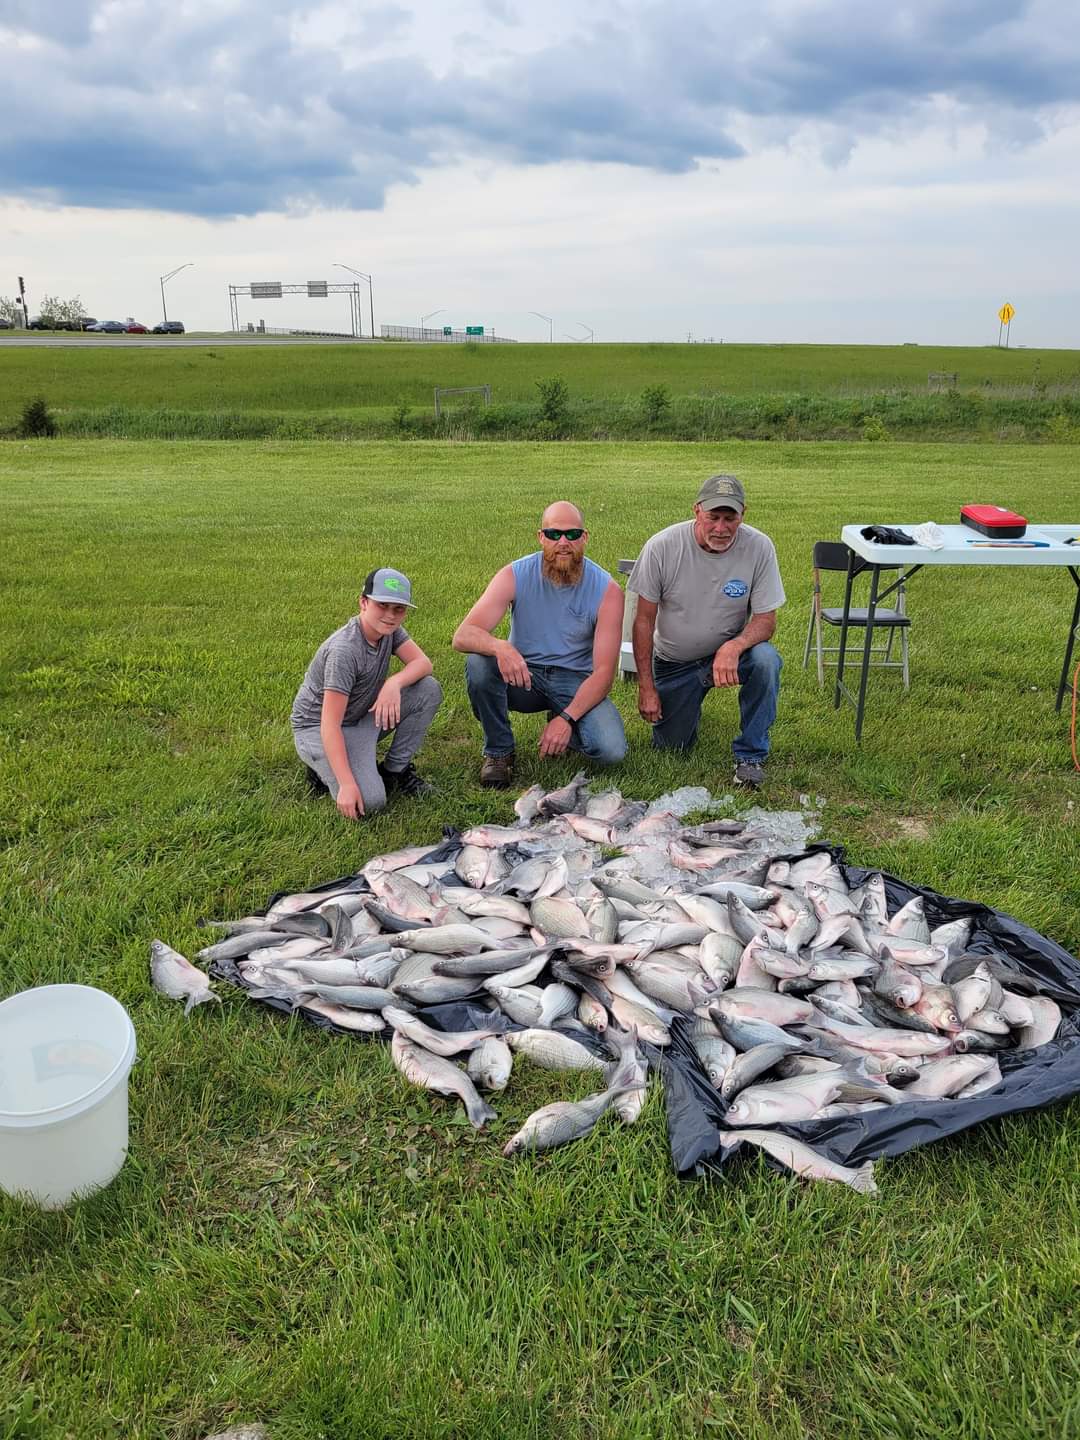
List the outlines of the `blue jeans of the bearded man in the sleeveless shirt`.
<svg viewBox="0 0 1080 1440">
<path fill-rule="evenodd" d="M 472 714 L 484 727 L 484 755 L 513 752 L 511 710 L 523 714 L 546 710 L 549 717 L 554 716 L 570 704 L 585 680 L 580 671 L 563 670 L 560 665 L 530 665 L 528 672 L 533 685 L 531 690 L 524 690 L 503 680 L 494 655 L 467 657 L 465 683 Z M 622 716 L 611 700 L 600 700 L 582 716 L 573 727 L 569 747 L 599 765 L 618 765 L 626 755 L 626 732 L 622 727 Z"/>
</svg>

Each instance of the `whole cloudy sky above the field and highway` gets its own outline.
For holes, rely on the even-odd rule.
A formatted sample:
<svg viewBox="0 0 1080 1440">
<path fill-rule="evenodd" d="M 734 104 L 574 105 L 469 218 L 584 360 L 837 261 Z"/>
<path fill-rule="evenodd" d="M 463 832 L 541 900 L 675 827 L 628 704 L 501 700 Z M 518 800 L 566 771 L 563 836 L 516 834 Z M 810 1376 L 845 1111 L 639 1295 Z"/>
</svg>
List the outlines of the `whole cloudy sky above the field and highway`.
<svg viewBox="0 0 1080 1440">
<path fill-rule="evenodd" d="M 223 330 L 340 262 L 376 327 L 984 344 L 1008 300 L 1080 347 L 1076 0 L 0 0 L 0 48 L 32 312 L 153 324 L 193 262 L 168 314 Z"/>
</svg>

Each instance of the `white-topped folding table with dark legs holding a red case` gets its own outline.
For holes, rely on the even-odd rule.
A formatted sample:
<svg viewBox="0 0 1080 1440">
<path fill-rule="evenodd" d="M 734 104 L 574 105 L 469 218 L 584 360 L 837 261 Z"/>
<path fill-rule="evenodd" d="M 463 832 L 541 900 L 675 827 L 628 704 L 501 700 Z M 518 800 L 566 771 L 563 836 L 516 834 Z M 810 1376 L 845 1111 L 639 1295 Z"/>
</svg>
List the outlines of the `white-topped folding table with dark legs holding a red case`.
<svg viewBox="0 0 1080 1440">
<path fill-rule="evenodd" d="M 1073 526 L 1028 526 L 1021 544 L 1002 541 L 991 543 L 989 536 L 979 534 L 968 526 L 940 526 L 945 544 L 940 550 L 927 550 L 920 544 L 878 544 L 876 540 L 864 537 L 864 526 L 844 526 L 841 539 L 848 547 L 848 577 L 844 590 L 844 618 L 840 628 L 840 655 L 837 657 L 837 688 L 834 694 L 834 708 L 840 710 L 841 700 L 848 700 L 855 707 L 855 743 L 863 736 L 863 713 L 867 700 L 867 677 L 870 674 L 870 648 L 874 638 L 874 613 L 883 600 L 916 570 L 924 564 L 1056 564 L 1064 566 L 1076 585 L 1076 603 L 1073 618 L 1068 624 L 1068 638 L 1066 641 L 1066 658 L 1061 665 L 1061 680 L 1057 687 L 1057 710 L 1068 681 L 1068 664 L 1073 658 L 1073 644 L 1076 641 L 1077 624 L 1080 624 L 1080 543 L 1066 544 L 1073 537 L 1080 537 L 1080 523 Z M 893 528 L 912 534 L 919 527 L 896 526 Z M 858 693 L 852 694 L 844 684 L 844 651 L 848 636 L 848 616 L 851 615 L 851 586 L 857 575 L 870 570 L 870 602 L 867 605 L 867 625 L 863 639 L 863 664 L 858 677 Z M 900 575 L 891 585 L 881 589 L 883 572 L 899 570 Z"/>
</svg>

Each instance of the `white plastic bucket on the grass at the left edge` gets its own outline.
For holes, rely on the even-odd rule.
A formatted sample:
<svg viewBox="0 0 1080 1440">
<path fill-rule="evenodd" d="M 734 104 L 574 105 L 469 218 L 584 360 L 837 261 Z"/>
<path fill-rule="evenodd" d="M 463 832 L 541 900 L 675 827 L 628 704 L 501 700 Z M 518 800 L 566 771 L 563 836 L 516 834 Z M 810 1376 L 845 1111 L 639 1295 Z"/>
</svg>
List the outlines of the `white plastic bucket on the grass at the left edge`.
<svg viewBox="0 0 1080 1440">
<path fill-rule="evenodd" d="M 128 1152 L 135 1027 L 91 985 L 40 985 L 0 1004 L 0 1189 L 59 1210 Z"/>
</svg>

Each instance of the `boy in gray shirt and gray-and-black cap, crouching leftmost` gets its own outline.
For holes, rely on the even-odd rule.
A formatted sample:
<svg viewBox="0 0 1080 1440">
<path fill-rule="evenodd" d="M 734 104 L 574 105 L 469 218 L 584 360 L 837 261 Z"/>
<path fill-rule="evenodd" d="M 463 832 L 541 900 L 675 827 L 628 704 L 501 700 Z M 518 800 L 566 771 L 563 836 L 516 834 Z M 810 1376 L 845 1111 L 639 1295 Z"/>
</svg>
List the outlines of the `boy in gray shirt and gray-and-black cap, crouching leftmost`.
<svg viewBox="0 0 1080 1440">
<path fill-rule="evenodd" d="M 400 570 L 372 570 L 360 613 L 315 651 L 292 701 L 292 740 L 314 788 L 330 791 L 347 819 L 382 809 L 387 795 L 426 795 L 412 766 L 442 701 L 432 662 L 402 621 L 416 606 Z M 390 657 L 403 668 L 389 675 Z M 386 759 L 376 747 L 393 732 Z"/>
</svg>

